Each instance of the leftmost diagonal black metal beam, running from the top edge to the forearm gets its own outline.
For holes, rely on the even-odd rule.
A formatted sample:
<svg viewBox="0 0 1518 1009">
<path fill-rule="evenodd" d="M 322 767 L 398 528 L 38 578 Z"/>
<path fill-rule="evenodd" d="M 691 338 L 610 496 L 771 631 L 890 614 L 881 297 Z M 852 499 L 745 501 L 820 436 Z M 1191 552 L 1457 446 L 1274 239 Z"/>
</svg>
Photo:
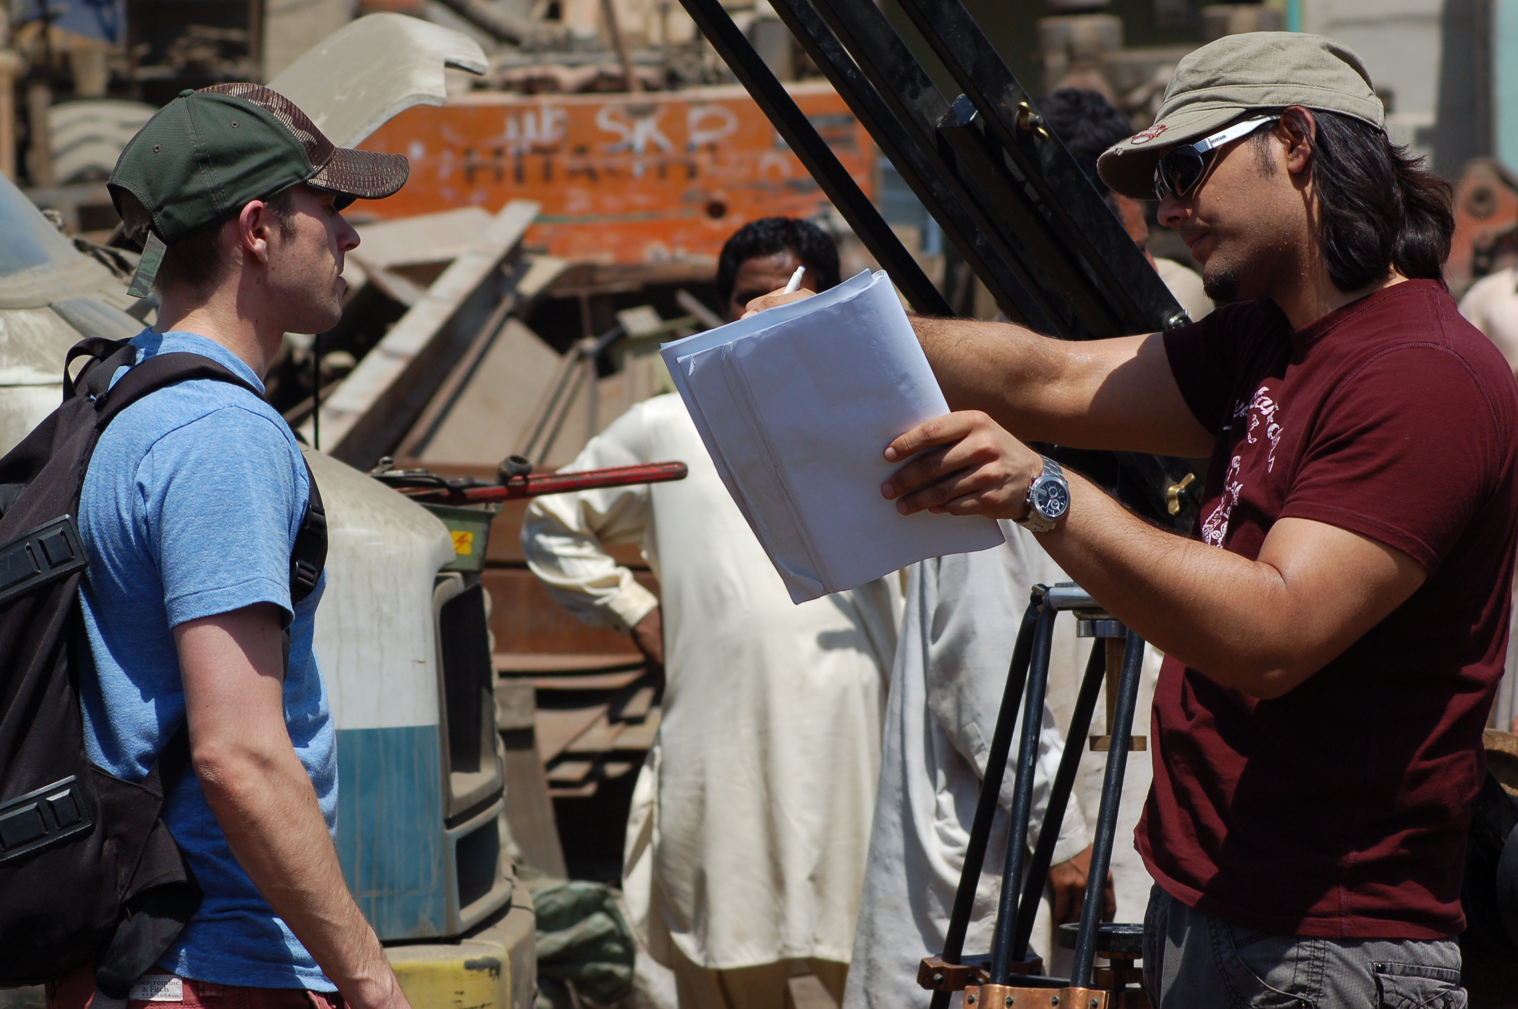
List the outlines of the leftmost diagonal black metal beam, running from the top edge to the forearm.
<svg viewBox="0 0 1518 1009">
<path fill-rule="evenodd" d="M 885 223 L 880 211 L 842 167 L 811 120 L 797 108 L 795 100 L 759 58 L 748 38 L 738 30 L 721 2 L 680 0 L 680 3 L 912 308 L 929 316 L 952 316 L 949 302 L 927 279 L 917 259 Z"/>
</svg>

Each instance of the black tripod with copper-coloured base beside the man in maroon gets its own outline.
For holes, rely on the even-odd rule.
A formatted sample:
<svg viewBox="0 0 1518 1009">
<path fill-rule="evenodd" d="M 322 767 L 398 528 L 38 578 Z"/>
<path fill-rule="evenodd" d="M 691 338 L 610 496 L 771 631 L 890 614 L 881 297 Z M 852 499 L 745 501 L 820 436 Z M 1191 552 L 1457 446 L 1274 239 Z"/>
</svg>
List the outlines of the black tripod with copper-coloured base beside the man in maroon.
<svg viewBox="0 0 1518 1009">
<path fill-rule="evenodd" d="M 1028 836 L 1028 821 L 1032 813 L 1034 763 L 1038 757 L 1038 730 L 1049 687 L 1049 649 L 1055 618 L 1067 610 L 1075 613 L 1076 633 L 1081 637 L 1099 639 L 1104 646 L 1093 646 L 1085 665 L 1081 692 L 1070 715 L 1064 754 L 1049 792 L 1038 842 L 1029 859 L 1023 839 Z M 1134 960 L 1142 956 L 1143 926 L 1101 921 L 1102 891 L 1113 860 L 1128 753 L 1131 748 L 1143 750 L 1148 742 L 1143 737 L 1132 737 L 1142 671 L 1143 640 L 1104 611 L 1085 590 L 1075 584 L 1034 586 L 1006 674 L 1006 690 L 1002 695 L 996 731 L 987 754 L 985 780 L 981 783 L 944 948 L 940 956 L 923 957 L 917 974 L 918 985 L 934 992 L 931 1009 L 947 1009 L 955 991 L 964 991 L 965 1009 L 1023 1006 L 1148 1009 L 1149 998 L 1143 988 L 1131 986 L 1143 980 L 1142 971 L 1134 967 Z M 1104 680 L 1108 734 L 1093 736 L 1091 748 L 1107 751 L 1107 772 L 1096 815 L 1085 906 L 1081 909 L 1079 926 L 1060 927 L 1060 945 L 1075 948 L 1075 962 L 1069 979 L 1046 977 L 1041 959 L 1029 954 L 1028 939 L 1034 930 L 1038 900 L 1049 875 L 1060 825 L 1081 765 L 1082 742 L 1090 731 Z M 984 956 L 964 956 L 965 930 L 970 926 L 976 883 L 981 879 L 991 821 L 1006 774 L 1019 703 L 1023 707 L 1023 730 L 1017 740 L 1017 777 L 991 951 Z M 1107 967 L 1098 967 L 1098 957 L 1105 959 Z"/>
</svg>

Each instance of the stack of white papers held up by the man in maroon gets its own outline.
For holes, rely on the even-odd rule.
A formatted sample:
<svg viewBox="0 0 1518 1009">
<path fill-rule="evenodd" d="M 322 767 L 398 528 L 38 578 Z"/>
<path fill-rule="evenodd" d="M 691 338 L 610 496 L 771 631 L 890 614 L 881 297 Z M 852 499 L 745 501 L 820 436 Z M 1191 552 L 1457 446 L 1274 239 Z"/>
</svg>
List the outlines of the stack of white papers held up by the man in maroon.
<svg viewBox="0 0 1518 1009">
<path fill-rule="evenodd" d="M 666 343 L 716 472 L 795 602 L 1003 542 L 991 519 L 903 516 L 882 452 L 949 413 L 885 273 Z"/>
</svg>

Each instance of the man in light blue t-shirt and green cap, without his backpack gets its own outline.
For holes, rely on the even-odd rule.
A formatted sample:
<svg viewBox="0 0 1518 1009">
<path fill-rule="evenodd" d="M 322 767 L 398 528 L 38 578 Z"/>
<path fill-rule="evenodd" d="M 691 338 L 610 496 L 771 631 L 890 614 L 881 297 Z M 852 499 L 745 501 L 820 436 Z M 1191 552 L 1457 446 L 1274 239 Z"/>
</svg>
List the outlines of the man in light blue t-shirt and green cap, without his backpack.
<svg viewBox="0 0 1518 1009">
<path fill-rule="evenodd" d="M 132 1006 L 408 1009 L 332 845 L 335 727 L 311 646 L 325 578 L 319 560 L 293 560 L 325 519 L 260 394 L 285 332 L 342 314 L 358 235 L 339 211 L 405 178 L 405 158 L 337 149 L 282 96 L 228 83 L 159 111 L 109 181 L 144 243 L 135 293 L 161 297 L 137 364 L 200 355 L 243 382 L 134 402 L 102 432 L 80 496 L 87 751 L 137 781 L 187 728 L 193 768 L 165 781 L 162 822 L 205 897 Z M 94 1009 L 124 1009 L 88 968 L 49 1001 L 82 1009 L 91 992 Z"/>
</svg>

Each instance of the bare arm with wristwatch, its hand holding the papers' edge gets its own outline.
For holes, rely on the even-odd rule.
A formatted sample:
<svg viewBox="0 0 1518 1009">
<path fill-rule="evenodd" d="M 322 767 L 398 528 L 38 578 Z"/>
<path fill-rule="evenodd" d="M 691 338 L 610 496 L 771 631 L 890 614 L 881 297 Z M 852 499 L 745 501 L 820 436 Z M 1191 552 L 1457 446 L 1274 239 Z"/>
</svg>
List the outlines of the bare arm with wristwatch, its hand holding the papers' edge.
<svg viewBox="0 0 1518 1009">
<path fill-rule="evenodd" d="M 1037 452 L 982 413 L 918 425 L 882 487 L 903 514 L 1023 519 Z M 1427 580 L 1412 557 L 1309 519 L 1281 519 L 1257 560 L 1155 528 L 1076 473 L 1069 516 L 1038 534 L 1049 555 L 1155 648 L 1257 698 L 1281 696 L 1343 652 Z"/>
</svg>

